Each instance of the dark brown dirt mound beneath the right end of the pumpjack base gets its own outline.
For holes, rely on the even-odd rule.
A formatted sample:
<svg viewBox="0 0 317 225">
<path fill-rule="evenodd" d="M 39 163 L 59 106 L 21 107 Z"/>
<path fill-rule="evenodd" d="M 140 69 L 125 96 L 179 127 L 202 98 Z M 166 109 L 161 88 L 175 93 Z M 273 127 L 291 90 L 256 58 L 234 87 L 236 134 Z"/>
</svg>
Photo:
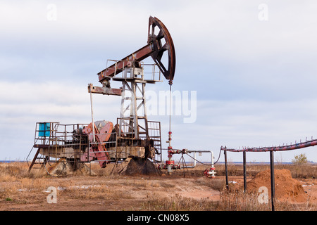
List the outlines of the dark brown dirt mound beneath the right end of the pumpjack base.
<svg viewBox="0 0 317 225">
<path fill-rule="evenodd" d="M 153 162 L 143 158 L 132 158 L 122 171 L 124 175 L 161 175 L 161 173 Z"/>
</svg>

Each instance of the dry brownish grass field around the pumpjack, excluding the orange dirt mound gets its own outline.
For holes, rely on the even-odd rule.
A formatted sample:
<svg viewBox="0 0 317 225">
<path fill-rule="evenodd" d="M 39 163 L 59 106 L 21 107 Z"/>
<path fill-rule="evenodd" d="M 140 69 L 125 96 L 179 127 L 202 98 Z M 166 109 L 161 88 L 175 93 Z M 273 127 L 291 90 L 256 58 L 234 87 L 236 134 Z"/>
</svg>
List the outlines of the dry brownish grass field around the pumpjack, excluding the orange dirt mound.
<svg viewBox="0 0 317 225">
<path fill-rule="evenodd" d="M 271 204 L 259 203 L 257 195 L 239 188 L 226 191 L 224 165 L 216 165 L 216 179 L 203 176 L 204 169 L 209 169 L 204 165 L 175 171 L 172 176 L 123 176 L 111 174 L 111 165 L 91 167 L 95 176 L 51 177 L 39 169 L 27 172 L 25 162 L 1 163 L 0 210 L 271 210 Z M 248 180 L 265 169 L 269 165 L 247 165 Z M 294 179 L 306 185 L 309 195 L 316 196 L 316 165 L 277 164 L 275 169 L 289 169 Z M 242 165 L 228 165 L 230 181 L 241 184 L 242 173 Z M 48 203 L 49 187 L 56 188 L 56 204 Z M 300 204 L 277 202 L 275 210 L 316 211 L 316 203 L 316 197 Z"/>
</svg>

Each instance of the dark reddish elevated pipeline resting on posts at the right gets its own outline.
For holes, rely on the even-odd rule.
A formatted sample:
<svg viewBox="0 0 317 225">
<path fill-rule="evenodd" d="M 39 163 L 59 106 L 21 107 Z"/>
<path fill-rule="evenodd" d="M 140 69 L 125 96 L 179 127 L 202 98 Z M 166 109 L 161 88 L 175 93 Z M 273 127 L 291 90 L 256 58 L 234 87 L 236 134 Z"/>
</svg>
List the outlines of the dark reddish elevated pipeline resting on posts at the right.
<svg viewBox="0 0 317 225">
<path fill-rule="evenodd" d="M 294 143 L 287 146 L 274 146 L 274 147 L 262 147 L 262 148 L 242 148 L 242 149 L 235 149 L 235 148 L 227 148 L 227 146 L 221 146 L 220 150 L 227 150 L 230 152 L 268 152 L 268 151 L 282 151 L 282 150 L 294 150 L 299 148 L 307 148 L 317 146 L 317 139 L 311 141 L 305 141 L 301 143 Z"/>
</svg>

